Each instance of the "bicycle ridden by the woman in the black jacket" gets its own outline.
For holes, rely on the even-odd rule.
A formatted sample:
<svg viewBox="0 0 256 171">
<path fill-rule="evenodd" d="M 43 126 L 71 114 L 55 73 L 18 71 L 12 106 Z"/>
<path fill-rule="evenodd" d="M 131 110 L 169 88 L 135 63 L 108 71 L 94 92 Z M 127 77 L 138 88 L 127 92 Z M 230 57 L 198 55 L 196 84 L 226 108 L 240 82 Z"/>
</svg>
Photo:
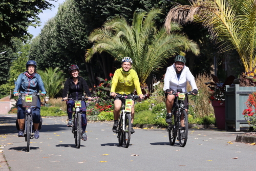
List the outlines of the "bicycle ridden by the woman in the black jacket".
<svg viewBox="0 0 256 171">
<path fill-rule="evenodd" d="M 82 100 L 88 100 L 88 98 L 82 98 L 81 100 L 74 100 L 72 98 L 68 98 L 67 100 L 73 100 L 75 101 L 75 110 L 73 111 L 73 115 L 72 115 L 72 134 L 74 134 L 74 138 L 75 138 L 75 145 L 77 148 L 80 148 L 81 145 L 81 135 L 82 135 L 82 125 L 81 125 L 81 115 L 82 112 L 80 111 L 80 107 L 81 105 L 81 101 Z M 92 100 L 92 99 L 91 99 Z M 61 100 L 61 101 L 65 101 L 65 100 Z"/>
</svg>

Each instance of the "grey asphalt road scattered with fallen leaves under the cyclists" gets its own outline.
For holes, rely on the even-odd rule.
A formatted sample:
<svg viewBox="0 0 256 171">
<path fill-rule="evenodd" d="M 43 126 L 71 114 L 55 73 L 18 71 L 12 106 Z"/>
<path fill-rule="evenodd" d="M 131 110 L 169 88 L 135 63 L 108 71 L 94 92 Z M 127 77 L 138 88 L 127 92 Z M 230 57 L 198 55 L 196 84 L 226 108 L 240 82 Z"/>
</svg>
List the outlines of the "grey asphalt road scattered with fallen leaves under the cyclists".
<svg viewBox="0 0 256 171">
<path fill-rule="evenodd" d="M 17 137 L 16 116 L 1 115 L 0 145 L 6 145 L 2 149 L 10 170 L 255 169 L 256 146 L 234 141 L 242 132 L 189 129 L 187 144 L 180 147 L 178 141 L 169 145 L 165 130 L 135 129 L 132 145 L 124 148 L 112 132 L 113 122 L 90 122 L 89 139 L 77 149 L 66 119 L 43 118 L 40 138 L 31 140 L 31 150 L 27 152 L 25 138 Z"/>
</svg>

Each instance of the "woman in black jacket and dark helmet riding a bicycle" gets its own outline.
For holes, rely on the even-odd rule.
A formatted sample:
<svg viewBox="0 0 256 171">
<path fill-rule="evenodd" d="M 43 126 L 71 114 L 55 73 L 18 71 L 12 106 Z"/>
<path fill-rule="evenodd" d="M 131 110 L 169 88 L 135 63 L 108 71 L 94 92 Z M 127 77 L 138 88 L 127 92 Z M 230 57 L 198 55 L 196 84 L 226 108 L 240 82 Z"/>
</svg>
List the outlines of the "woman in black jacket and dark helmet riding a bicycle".
<svg viewBox="0 0 256 171">
<path fill-rule="evenodd" d="M 72 77 L 68 78 L 65 82 L 62 98 L 67 101 L 67 113 L 69 117 L 68 126 L 72 126 L 72 109 L 75 104 L 74 100 L 81 100 L 83 96 L 83 91 L 86 91 L 89 99 L 92 99 L 91 93 L 88 87 L 86 80 L 84 80 L 81 76 L 79 76 L 79 68 L 76 65 L 72 65 L 69 67 L 69 73 Z M 69 95 L 67 97 L 67 94 Z M 68 98 L 72 98 L 74 100 L 68 100 Z M 86 118 L 86 102 L 84 100 L 81 101 L 80 112 L 82 112 L 82 140 L 87 140 L 86 135 L 86 126 L 87 126 L 87 118 Z"/>
</svg>

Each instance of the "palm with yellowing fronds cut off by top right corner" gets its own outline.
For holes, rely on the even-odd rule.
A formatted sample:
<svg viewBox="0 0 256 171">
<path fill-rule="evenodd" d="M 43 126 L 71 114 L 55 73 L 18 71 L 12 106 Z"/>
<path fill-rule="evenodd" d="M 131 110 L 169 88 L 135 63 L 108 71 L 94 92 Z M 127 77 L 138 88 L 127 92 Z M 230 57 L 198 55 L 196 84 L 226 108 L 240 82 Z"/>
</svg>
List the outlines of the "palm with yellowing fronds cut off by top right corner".
<svg viewBox="0 0 256 171">
<path fill-rule="evenodd" d="M 236 49 L 245 76 L 256 74 L 256 1 L 254 0 L 191 0 L 190 5 L 170 9 L 166 16 L 169 23 L 196 22 L 208 28 L 212 39 L 223 48 L 220 52 Z"/>
</svg>

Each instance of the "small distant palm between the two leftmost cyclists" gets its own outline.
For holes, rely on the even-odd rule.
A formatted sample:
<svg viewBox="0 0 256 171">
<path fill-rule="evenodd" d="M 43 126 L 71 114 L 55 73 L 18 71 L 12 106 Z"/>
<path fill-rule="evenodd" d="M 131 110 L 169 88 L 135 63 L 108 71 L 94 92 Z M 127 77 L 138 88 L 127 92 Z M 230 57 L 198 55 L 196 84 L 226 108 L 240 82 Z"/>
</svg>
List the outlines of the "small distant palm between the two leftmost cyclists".
<svg viewBox="0 0 256 171">
<path fill-rule="evenodd" d="M 46 68 L 46 71 L 38 70 L 38 74 L 40 74 L 42 81 L 44 81 L 46 92 L 49 98 L 54 98 L 56 94 L 63 89 L 62 82 L 65 81 L 65 77 L 63 72 L 58 71 L 58 67 L 55 69 Z"/>
</svg>

